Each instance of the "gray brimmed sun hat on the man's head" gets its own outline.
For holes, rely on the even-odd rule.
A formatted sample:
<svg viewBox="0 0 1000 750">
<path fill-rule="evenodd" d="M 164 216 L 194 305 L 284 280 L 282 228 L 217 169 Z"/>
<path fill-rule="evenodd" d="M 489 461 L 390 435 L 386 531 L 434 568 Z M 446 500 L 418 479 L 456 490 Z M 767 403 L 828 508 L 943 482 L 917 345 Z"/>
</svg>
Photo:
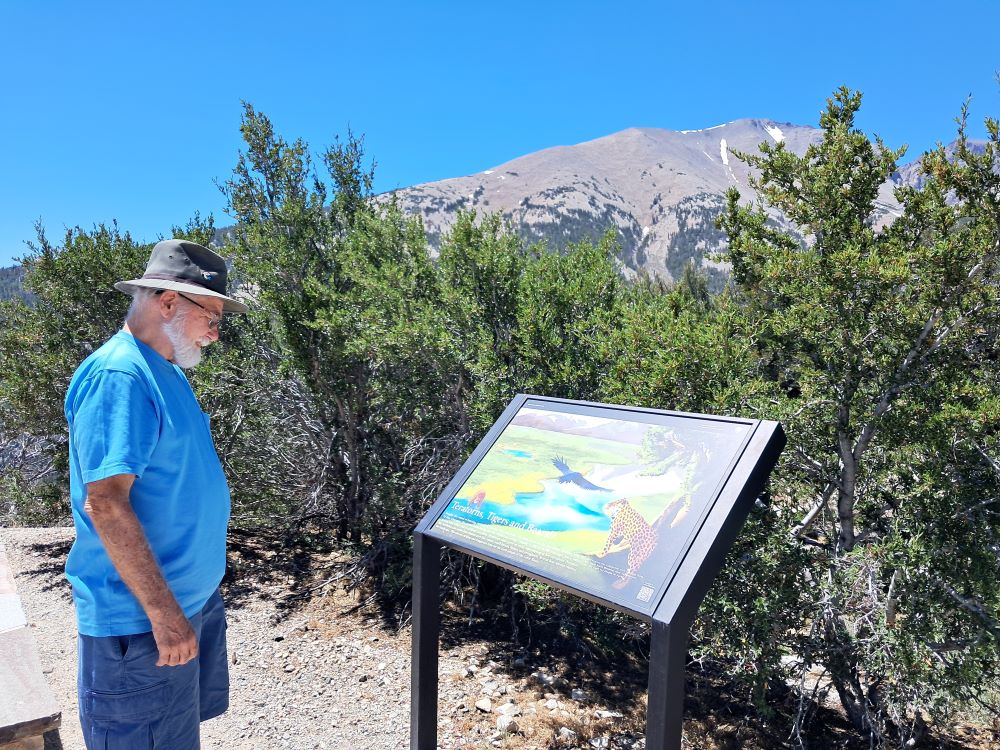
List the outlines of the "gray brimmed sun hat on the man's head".
<svg viewBox="0 0 1000 750">
<path fill-rule="evenodd" d="M 115 289 L 132 294 L 136 287 L 218 297 L 223 312 L 246 312 L 242 302 L 226 296 L 226 261 L 207 247 L 187 240 L 157 242 L 141 279 L 119 281 Z"/>
</svg>

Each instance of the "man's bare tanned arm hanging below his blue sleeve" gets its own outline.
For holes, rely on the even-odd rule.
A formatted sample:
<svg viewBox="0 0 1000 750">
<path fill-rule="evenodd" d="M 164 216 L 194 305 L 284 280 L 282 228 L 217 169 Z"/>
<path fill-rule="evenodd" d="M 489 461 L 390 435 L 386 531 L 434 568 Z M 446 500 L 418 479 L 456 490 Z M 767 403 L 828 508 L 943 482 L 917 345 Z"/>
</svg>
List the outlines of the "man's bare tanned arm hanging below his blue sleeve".
<svg viewBox="0 0 1000 750">
<path fill-rule="evenodd" d="M 84 511 L 97 529 L 108 557 L 153 625 L 160 651 L 156 666 L 178 666 L 198 654 L 191 623 L 163 580 L 149 542 L 129 501 L 135 476 L 117 474 L 87 484 Z"/>
</svg>

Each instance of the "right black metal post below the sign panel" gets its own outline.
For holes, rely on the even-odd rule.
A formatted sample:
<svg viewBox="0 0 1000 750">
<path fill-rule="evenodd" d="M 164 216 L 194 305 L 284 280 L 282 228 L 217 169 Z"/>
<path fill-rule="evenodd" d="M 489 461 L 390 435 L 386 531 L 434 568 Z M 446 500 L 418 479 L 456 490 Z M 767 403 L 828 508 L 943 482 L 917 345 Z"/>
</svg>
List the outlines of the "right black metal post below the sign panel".
<svg viewBox="0 0 1000 750">
<path fill-rule="evenodd" d="M 653 620 L 649 648 L 646 750 L 680 750 L 688 628 Z"/>
</svg>

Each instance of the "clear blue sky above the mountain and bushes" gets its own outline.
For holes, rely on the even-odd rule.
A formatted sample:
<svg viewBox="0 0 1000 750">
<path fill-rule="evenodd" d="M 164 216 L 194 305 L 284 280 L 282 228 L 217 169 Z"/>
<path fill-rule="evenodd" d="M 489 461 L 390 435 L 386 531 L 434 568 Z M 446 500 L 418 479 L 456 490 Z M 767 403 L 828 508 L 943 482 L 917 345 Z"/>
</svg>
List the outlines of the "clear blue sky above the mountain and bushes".
<svg viewBox="0 0 1000 750">
<path fill-rule="evenodd" d="M 829 9 L 828 9 L 829 8 Z M 154 240 L 215 186 L 241 100 L 314 151 L 350 127 L 379 191 L 632 126 L 817 122 L 844 84 L 860 124 L 916 157 L 1000 115 L 995 0 L 963 3 L 95 2 L 0 5 L 0 266 L 41 220 Z"/>
</svg>

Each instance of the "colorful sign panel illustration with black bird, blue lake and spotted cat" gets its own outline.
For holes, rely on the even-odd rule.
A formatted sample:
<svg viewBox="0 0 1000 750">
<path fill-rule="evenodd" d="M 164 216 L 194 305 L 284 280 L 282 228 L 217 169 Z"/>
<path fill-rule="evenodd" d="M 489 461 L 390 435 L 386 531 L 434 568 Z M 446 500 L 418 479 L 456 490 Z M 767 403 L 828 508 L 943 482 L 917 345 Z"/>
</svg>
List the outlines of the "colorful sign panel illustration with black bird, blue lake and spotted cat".
<svg viewBox="0 0 1000 750">
<path fill-rule="evenodd" d="M 748 430 L 524 406 L 432 528 L 581 591 L 641 606 L 672 573 Z"/>
</svg>

